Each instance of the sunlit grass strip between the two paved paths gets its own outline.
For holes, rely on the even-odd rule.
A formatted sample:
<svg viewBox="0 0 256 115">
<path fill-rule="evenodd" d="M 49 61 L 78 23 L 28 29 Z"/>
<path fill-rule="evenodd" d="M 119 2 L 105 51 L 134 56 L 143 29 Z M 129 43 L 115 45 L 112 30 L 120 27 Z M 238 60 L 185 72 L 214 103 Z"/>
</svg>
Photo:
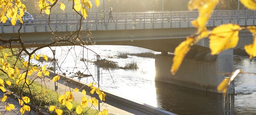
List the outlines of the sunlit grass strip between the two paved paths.
<svg viewBox="0 0 256 115">
<path fill-rule="evenodd" d="M 3 73 L 0 73 L 0 74 L 2 77 Z M 16 94 L 19 95 L 23 84 L 20 84 L 17 86 L 16 83 L 14 82 L 14 80 L 12 80 L 11 82 L 12 82 L 12 85 L 7 88 L 13 92 L 16 92 Z M 51 114 L 56 114 L 55 111 L 53 111 L 53 112 L 49 111 L 49 107 L 51 105 L 55 105 L 58 109 L 63 110 L 63 115 L 75 115 L 76 114 L 76 110 L 75 110 L 76 106 L 80 105 L 79 102 L 72 101 L 73 108 L 69 111 L 65 105 L 61 105 L 58 102 L 58 96 L 60 96 L 60 94 L 57 94 L 55 91 L 47 88 L 44 85 L 36 83 L 36 82 L 33 82 L 32 86 L 30 86 L 30 88 L 28 88 L 25 85 L 23 88 L 23 91 L 22 91 L 22 95 L 30 97 L 31 102 L 33 101 L 33 103 L 36 106 L 38 106 L 39 108 L 41 108 L 43 110 L 46 110 L 48 113 L 51 113 Z M 97 111 L 94 109 L 90 109 L 89 107 L 85 107 L 85 108 L 83 108 L 82 113 L 84 115 L 91 115 L 91 114 L 97 113 Z"/>
</svg>

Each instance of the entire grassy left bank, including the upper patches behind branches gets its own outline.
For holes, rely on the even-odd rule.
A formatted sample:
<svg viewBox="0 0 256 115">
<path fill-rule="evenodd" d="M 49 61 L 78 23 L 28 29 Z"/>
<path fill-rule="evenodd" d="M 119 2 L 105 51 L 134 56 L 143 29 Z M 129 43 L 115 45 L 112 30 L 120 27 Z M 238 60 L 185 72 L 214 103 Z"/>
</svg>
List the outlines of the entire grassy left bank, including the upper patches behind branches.
<svg viewBox="0 0 256 115">
<path fill-rule="evenodd" d="M 12 55 L 9 49 L 3 49 L 2 51 L 5 51 L 8 56 Z M 7 57 L 8 63 L 13 67 L 12 65 L 16 62 L 17 58 L 16 57 Z M 16 64 L 16 67 L 23 68 L 23 59 L 21 61 L 18 61 Z M 6 88 L 11 90 L 12 92 L 15 92 L 18 96 L 20 96 L 20 91 L 22 89 L 23 83 L 20 83 L 19 85 L 16 85 L 16 81 L 13 79 L 10 79 L 8 75 L 0 71 L 0 78 L 3 80 L 9 80 L 11 81 L 11 86 L 7 86 Z M 29 76 L 28 76 L 29 79 Z M 32 80 L 30 80 L 32 81 Z M 46 81 L 47 82 L 47 81 Z M 55 111 L 50 112 L 49 107 L 51 105 L 55 105 L 58 109 L 63 110 L 63 115 L 75 115 L 76 114 L 76 106 L 80 105 L 79 102 L 77 101 L 72 101 L 73 108 L 69 111 L 65 105 L 61 105 L 58 102 L 58 96 L 60 94 L 57 94 L 55 91 L 47 88 L 44 85 L 41 85 L 39 83 L 33 82 L 30 88 L 28 86 L 24 86 L 22 90 L 22 96 L 28 96 L 31 99 L 30 104 L 33 102 L 36 106 L 39 108 L 43 109 L 44 111 L 47 111 L 48 113 L 51 114 L 56 114 Z M 75 97 L 74 97 L 75 98 Z M 88 110 L 88 111 L 87 111 Z M 86 112 L 87 111 L 87 112 Z M 94 109 L 90 109 L 89 107 L 83 108 L 83 115 L 91 115 L 91 114 L 96 114 L 97 111 Z"/>
</svg>

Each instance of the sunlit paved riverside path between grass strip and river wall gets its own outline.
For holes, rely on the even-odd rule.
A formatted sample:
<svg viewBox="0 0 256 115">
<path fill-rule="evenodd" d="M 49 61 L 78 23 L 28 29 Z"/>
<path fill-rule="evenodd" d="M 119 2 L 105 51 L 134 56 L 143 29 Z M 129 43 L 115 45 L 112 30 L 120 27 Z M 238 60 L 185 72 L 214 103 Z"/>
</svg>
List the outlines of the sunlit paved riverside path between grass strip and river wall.
<svg viewBox="0 0 256 115">
<path fill-rule="evenodd" d="M 36 75 L 37 72 L 33 72 L 33 74 L 31 75 L 30 78 L 34 79 L 37 77 Z M 40 78 L 36 78 L 35 82 L 38 82 L 41 84 L 41 81 L 42 81 L 42 84 L 44 85 L 44 82 L 45 82 L 45 85 L 54 90 L 54 83 L 52 82 L 52 80 L 50 78 L 52 78 L 53 76 L 50 74 L 50 77 L 40 77 Z M 44 80 L 44 82 L 43 82 Z M 58 93 L 59 94 L 64 94 L 65 91 L 69 91 L 71 90 L 73 92 L 73 95 L 74 95 L 74 100 L 76 101 L 79 101 L 81 102 L 81 98 L 82 98 L 82 90 L 80 90 L 79 92 L 74 92 L 74 88 L 81 88 L 81 87 L 78 87 L 78 86 L 75 86 L 74 84 L 68 84 L 67 82 L 65 82 L 65 80 L 63 79 L 59 79 L 58 80 L 58 83 L 56 83 L 58 85 Z M 69 86 L 69 87 L 68 87 Z M 91 98 L 91 96 L 89 96 L 88 94 L 90 94 L 89 91 L 86 91 L 86 97 L 88 99 Z M 57 97 L 54 97 L 57 99 Z M 88 103 L 88 107 L 91 106 L 91 103 L 89 102 Z M 93 109 L 97 109 L 98 110 L 98 106 L 97 107 L 94 107 L 92 106 Z M 140 112 L 136 109 L 133 109 L 131 107 L 127 107 L 123 104 L 120 104 L 120 103 L 116 103 L 115 101 L 112 101 L 112 100 L 107 100 L 106 99 L 106 103 L 101 103 L 100 104 L 100 110 L 103 110 L 103 109 L 108 109 L 108 113 L 110 115 L 148 115 L 146 113 L 143 113 L 143 112 Z M 98 114 L 96 114 L 98 115 Z"/>
</svg>

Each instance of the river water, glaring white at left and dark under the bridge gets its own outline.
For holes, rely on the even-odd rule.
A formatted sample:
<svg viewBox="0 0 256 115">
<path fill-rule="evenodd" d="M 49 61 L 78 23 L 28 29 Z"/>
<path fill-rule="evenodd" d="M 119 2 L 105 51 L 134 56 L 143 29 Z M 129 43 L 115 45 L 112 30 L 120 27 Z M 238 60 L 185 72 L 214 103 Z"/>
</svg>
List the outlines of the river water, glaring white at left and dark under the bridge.
<svg viewBox="0 0 256 115">
<path fill-rule="evenodd" d="M 126 63 L 137 62 L 139 69 L 102 69 L 101 88 L 108 90 L 122 97 L 140 101 L 148 105 L 158 107 L 176 114 L 222 114 L 222 95 L 207 93 L 188 89 L 180 86 L 170 85 L 162 82 L 155 82 L 155 59 L 146 57 L 137 57 L 128 55 L 126 59 L 117 57 L 119 52 L 124 53 L 142 53 L 154 52 L 148 49 L 133 46 L 108 46 L 91 45 L 86 46 L 89 50 L 81 47 L 63 46 L 51 47 L 56 50 L 58 59 L 58 72 L 65 72 L 67 76 L 73 76 L 74 73 L 81 71 L 85 74 L 92 74 L 93 77 L 78 79 L 86 83 L 97 80 L 95 75 L 95 65 L 91 62 L 82 62 L 84 57 L 90 61 L 96 61 L 96 52 L 101 55 L 101 59 L 112 60 L 118 63 L 119 67 L 124 67 Z M 53 57 L 49 48 L 43 48 L 37 53 Z M 94 52 L 92 52 L 92 51 Z M 25 57 L 25 60 L 27 57 Z M 38 61 L 32 61 L 34 64 L 42 64 Z M 51 64 L 46 63 L 49 66 Z M 86 69 L 88 67 L 88 69 Z M 234 56 L 234 68 L 245 72 L 255 72 L 256 59 L 249 60 L 248 57 Z M 97 81 L 94 81 L 97 82 Z M 235 79 L 235 95 L 233 100 L 233 111 L 235 114 L 253 114 L 256 113 L 256 76 L 251 74 L 240 74 Z"/>
</svg>

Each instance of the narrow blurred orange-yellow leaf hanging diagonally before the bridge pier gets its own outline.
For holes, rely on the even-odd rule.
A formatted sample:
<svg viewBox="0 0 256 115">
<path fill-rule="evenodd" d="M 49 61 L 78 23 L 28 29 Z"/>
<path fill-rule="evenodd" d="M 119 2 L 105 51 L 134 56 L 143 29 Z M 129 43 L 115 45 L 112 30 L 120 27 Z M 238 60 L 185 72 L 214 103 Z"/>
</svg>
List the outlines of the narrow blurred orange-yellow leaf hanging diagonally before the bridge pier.
<svg viewBox="0 0 256 115">
<path fill-rule="evenodd" d="M 179 46 L 175 48 L 173 64 L 171 69 L 172 74 L 175 74 L 177 70 L 180 68 L 180 64 L 183 61 L 185 55 L 190 50 L 190 47 L 193 44 L 193 42 L 193 38 L 187 37 L 186 41 L 183 41 Z"/>
</svg>

